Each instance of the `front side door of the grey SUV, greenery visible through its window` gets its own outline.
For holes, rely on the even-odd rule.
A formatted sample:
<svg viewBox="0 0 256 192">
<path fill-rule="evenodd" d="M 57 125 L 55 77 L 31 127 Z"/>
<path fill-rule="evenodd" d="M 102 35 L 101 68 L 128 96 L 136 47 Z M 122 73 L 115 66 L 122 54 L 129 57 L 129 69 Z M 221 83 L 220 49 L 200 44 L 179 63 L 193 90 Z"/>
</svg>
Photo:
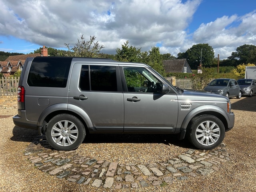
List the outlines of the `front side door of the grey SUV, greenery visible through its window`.
<svg viewBox="0 0 256 192">
<path fill-rule="evenodd" d="M 163 82 L 144 67 L 123 66 L 124 132 L 174 132 L 178 119 L 175 93 L 161 94 Z"/>
</svg>

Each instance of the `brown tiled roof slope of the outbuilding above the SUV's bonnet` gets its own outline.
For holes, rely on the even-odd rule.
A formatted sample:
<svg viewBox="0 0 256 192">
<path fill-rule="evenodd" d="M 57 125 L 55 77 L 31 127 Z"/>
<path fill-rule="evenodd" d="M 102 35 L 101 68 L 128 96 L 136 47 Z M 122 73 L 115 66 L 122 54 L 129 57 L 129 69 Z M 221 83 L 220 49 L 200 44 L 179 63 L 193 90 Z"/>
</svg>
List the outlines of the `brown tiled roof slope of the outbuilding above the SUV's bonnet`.
<svg viewBox="0 0 256 192">
<path fill-rule="evenodd" d="M 180 73 L 183 70 L 186 59 L 163 60 L 164 70 L 166 73 Z"/>
</svg>

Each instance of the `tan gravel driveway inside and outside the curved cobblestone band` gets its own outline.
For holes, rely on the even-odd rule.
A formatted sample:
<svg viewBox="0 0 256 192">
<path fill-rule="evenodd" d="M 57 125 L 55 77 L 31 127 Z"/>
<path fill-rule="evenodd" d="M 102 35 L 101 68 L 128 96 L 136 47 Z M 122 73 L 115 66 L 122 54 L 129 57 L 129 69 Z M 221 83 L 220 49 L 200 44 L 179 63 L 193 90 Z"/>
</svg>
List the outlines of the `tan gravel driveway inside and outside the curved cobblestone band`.
<svg viewBox="0 0 256 192">
<path fill-rule="evenodd" d="M 256 96 L 230 100 L 236 117 L 234 128 L 226 133 L 224 139 L 230 161 L 221 164 L 218 171 L 206 176 L 198 174 L 188 180 L 175 180 L 166 186 L 104 191 L 256 191 Z M 99 191 L 89 185 L 58 179 L 36 168 L 24 155 L 24 151 L 38 136 L 37 131 L 14 127 L 12 116 L 17 109 L 0 111 L 0 191 Z M 188 142 L 178 141 L 175 136 L 92 135 L 76 152 L 80 155 L 89 152 L 97 159 L 110 162 L 145 164 L 170 159 L 189 148 Z"/>
</svg>

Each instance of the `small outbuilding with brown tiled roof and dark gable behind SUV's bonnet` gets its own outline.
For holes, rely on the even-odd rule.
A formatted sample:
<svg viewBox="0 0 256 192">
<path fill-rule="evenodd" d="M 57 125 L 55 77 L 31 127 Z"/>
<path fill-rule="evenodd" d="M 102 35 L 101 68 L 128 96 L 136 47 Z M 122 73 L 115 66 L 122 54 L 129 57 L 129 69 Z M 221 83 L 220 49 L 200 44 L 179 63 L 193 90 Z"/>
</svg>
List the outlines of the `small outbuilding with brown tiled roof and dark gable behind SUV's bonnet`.
<svg viewBox="0 0 256 192">
<path fill-rule="evenodd" d="M 192 73 L 192 70 L 186 59 L 163 60 L 166 73 Z"/>
</svg>

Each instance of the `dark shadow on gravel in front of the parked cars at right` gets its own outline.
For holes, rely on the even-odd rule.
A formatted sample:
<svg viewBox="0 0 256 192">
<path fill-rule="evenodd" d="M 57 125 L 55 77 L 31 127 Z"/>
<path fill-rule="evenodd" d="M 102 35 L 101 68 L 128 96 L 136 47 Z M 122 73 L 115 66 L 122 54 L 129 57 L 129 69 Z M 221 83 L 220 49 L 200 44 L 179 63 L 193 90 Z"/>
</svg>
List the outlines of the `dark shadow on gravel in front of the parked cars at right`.
<svg viewBox="0 0 256 192">
<path fill-rule="evenodd" d="M 256 112 L 256 95 L 243 97 L 242 99 L 230 98 L 231 110 L 242 110 Z"/>
</svg>

